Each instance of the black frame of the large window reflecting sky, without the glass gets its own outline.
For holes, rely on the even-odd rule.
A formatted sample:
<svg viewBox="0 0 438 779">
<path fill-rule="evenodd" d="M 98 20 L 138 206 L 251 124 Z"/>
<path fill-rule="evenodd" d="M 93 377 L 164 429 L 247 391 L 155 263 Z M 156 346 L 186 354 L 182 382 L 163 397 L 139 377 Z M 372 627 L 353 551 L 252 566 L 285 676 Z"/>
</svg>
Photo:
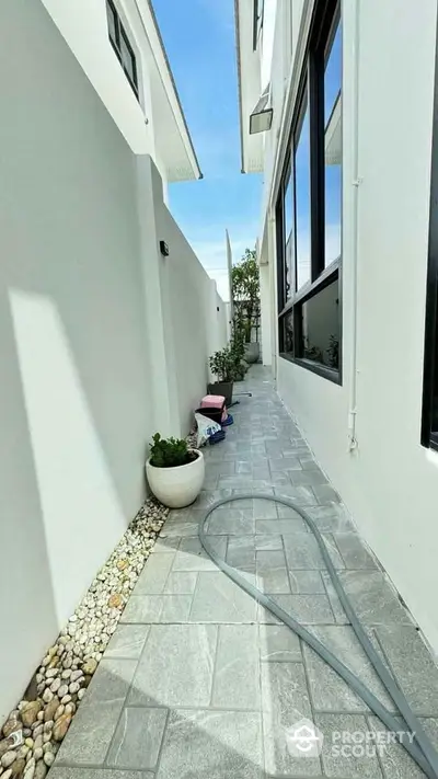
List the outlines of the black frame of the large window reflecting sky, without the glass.
<svg viewBox="0 0 438 779">
<path fill-rule="evenodd" d="M 291 117 L 288 154 L 285 160 L 276 202 L 276 245 L 277 245 L 277 305 L 278 305 L 278 352 L 279 356 L 296 365 L 342 385 L 342 232 L 341 254 L 325 267 L 325 126 L 324 126 L 324 73 L 325 51 L 333 43 L 341 21 L 341 0 L 318 0 L 306 47 L 303 66 L 295 110 Z M 307 93 L 307 95 L 306 95 Z M 342 94 L 342 84 L 339 93 Z M 307 107 L 303 110 L 304 100 Z M 337 98 L 338 100 L 338 98 Z M 335 101 L 335 103 L 337 102 Z M 286 301 L 286 238 L 284 203 L 289 171 L 293 177 L 293 240 L 295 278 L 297 272 L 297 182 L 295 171 L 296 136 L 300 121 L 309 110 L 310 144 L 310 279 L 299 289 L 293 289 Z M 342 202 L 342 185 L 341 185 Z M 302 306 L 333 282 L 338 284 L 339 317 L 339 367 L 338 369 L 312 362 L 302 356 Z M 284 352 L 284 320 L 292 311 L 293 354 Z"/>
</svg>

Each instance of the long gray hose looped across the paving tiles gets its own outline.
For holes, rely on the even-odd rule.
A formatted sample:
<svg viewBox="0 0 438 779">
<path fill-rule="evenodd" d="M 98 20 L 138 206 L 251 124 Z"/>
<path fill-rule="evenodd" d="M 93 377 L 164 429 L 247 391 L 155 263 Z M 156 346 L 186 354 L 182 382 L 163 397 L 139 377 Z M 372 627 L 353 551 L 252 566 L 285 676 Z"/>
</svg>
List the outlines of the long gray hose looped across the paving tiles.
<svg viewBox="0 0 438 779">
<path fill-rule="evenodd" d="M 407 726 L 411 736 L 414 740 L 404 737 L 401 732 L 400 722 L 395 719 L 393 714 L 380 702 L 380 700 L 371 692 L 371 690 L 362 684 L 356 674 L 354 674 L 349 668 L 347 668 L 344 663 L 342 663 L 326 646 L 324 646 L 321 641 L 319 641 L 309 630 L 307 630 L 300 622 L 297 622 L 293 617 L 291 617 L 287 611 L 285 611 L 275 600 L 273 600 L 268 595 L 263 593 L 261 589 L 255 587 L 251 582 L 249 582 L 237 569 L 229 565 L 224 560 L 222 560 L 210 546 L 208 537 L 206 534 L 206 523 L 208 517 L 212 512 L 219 506 L 223 506 L 228 503 L 233 503 L 234 501 L 245 501 L 245 500 L 263 500 L 263 501 L 274 501 L 275 503 L 281 503 L 284 506 L 292 508 L 297 514 L 302 517 L 314 538 L 318 541 L 321 554 L 323 557 L 324 563 L 327 568 L 328 574 L 333 582 L 333 586 L 337 593 L 337 596 L 342 603 L 344 611 L 348 617 L 353 630 L 355 631 L 360 645 L 368 655 L 376 673 L 380 677 L 382 684 L 387 688 L 389 695 L 394 701 L 396 708 L 403 717 L 404 724 Z M 430 740 L 426 735 L 425 731 L 417 717 L 412 711 L 404 694 L 399 687 L 397 681 L 393 675 L 388 671 L 387 666 L 381 661 L 379 654 L 376 652 L 371 641 L 369 640 L 366 631 L 364 630 L 356 611 L 341 583 L 341 580 L 336 573 L 336 569 L 333 565 L 332 559 L 327 552 L 324 540 L 321 536 L 319 528 L 313 522 L 312 517 L 301 507 L 297 506 L 293 501 L 287 497 L 273 496 L 261 493 L 249 492 L 242 495 L 233 495 L 232 497 L 224 497 L 217 503 L 212 504 L 206 512 L 204 519 L 199 524 L 199 540 L 203 545 L 207 554 L 211 560 L 218 565 L 218 568 L 223 571 L 230 578 L 235 582 L 242 589 L 245 591 L 251 597 L 253 597 L 257 603 L 262 604 L 265 608 L 272 611 L 278 619 L 281 620 L 290 630 L 292 630 L 297 635 L 299 635 L 303 641 L 306 641 L 309 646 L 314 650 L 322 660 L 327 663 L 336 673 L 349 685 L 349 687 L 357 692 L 358 696 L 365 701 L 365 703 L 377 714 L 377 717 L 387 725 L 390 731 L 397 734 L 397 740 L 404 746 L 404 748 L 410 753 L 411 757 L 415 763 L 424 770 L 429 779 L 438 779 L 438 753 L 433 746 Z M 402 725 L 403 726 L 403 725 Z"/>
</svg>

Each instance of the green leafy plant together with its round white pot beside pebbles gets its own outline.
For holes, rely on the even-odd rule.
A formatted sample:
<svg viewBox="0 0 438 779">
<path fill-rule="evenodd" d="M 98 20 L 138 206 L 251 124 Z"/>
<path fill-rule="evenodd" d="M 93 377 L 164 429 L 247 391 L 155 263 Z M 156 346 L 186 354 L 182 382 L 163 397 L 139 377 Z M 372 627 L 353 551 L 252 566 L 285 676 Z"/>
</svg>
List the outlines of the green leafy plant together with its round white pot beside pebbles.
<svg viewBox="0 0 438 779">
<path fill-rule="evenodd" d="M 155 433 L 146 463 L 146 476 L 155 497 L 169 508 L 183 508 L 196 501 L 204 483 L 203 452 L 176 438 Z"/>
</svg>

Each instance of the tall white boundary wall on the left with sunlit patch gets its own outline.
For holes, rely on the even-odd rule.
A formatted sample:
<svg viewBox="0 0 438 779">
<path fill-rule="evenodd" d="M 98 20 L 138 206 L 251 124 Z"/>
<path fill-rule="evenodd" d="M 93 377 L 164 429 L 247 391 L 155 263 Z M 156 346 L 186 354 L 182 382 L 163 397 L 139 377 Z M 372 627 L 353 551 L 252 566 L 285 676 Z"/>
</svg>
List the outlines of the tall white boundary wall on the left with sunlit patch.
<svg viewBox="0 0 438 779">
<path fill-rule="evenodd" d="M 173 416 L 161 357 L 182 342 L 151 158 L 136 160 L 39 2 L 3 0 L 0 59 L 1 724 L 138 511 L 152 433 L 181 432 L 195 386 L 177 373 Z M 183 243 L 180 279 L 195 273 Z M 209 288 L 199 265 L 196 279 Z M 187 305 L 200 397 L 207 322 Z"/>
</svg>

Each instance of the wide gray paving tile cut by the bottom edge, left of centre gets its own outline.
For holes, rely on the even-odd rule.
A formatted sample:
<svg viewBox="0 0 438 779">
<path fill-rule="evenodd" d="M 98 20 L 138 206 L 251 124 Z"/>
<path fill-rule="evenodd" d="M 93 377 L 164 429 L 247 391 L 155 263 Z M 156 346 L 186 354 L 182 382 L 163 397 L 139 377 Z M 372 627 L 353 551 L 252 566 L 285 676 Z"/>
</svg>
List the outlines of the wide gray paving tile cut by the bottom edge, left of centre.
<svg viewBox="0 0 438 779">
<path fill-rule="evenodd" d="M 261 714 L 173 711 L 157 779 L 263 779 Z"/>
</svg>

